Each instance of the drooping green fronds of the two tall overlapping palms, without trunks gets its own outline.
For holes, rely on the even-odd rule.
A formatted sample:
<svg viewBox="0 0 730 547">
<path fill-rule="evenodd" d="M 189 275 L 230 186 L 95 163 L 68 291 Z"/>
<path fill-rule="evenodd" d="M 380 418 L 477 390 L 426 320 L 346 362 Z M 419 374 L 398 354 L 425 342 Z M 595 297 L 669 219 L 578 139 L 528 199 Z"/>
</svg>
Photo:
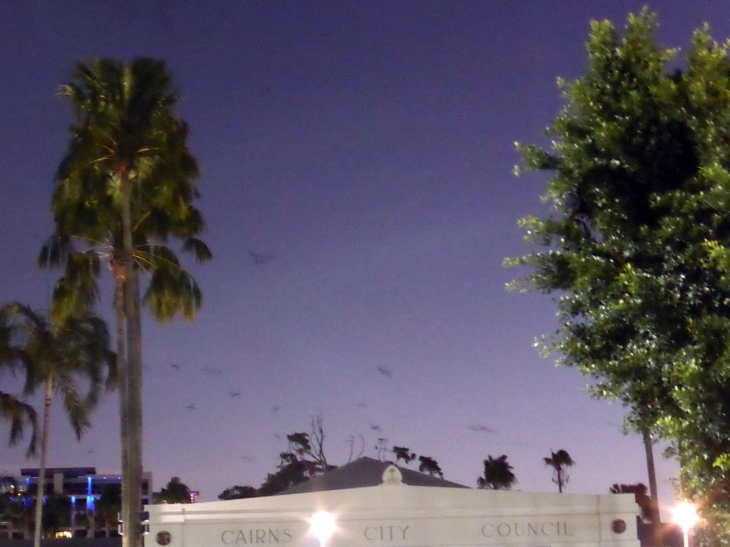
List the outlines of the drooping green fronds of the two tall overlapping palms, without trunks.
<svg viewBox="0 0 730 547">
<path fill-rule="evenodd" d="M 120 274 L 122 191 L 128 182 L 135 268 L 150 276 L 144 295 L 159 321 L 192 319 L 202 295 L 195 279 L 166 247 L 169 238 L 196 260 L 210 260 L 197 236 L 204 230 L 193 206 L 199 175 L 188 150 L 187 124 L 174 112 L 177 96 L 164 63 L 112 59 L 80 64 L 61 85 L 76 115 L 72 139 L 56 173 L 52 210 L 55 233 L 39 255 L 43 267 L 63 267 L 54 314 L 88 309 L 98 298 L 99 260 L 109 257 Z"/>
</svg>

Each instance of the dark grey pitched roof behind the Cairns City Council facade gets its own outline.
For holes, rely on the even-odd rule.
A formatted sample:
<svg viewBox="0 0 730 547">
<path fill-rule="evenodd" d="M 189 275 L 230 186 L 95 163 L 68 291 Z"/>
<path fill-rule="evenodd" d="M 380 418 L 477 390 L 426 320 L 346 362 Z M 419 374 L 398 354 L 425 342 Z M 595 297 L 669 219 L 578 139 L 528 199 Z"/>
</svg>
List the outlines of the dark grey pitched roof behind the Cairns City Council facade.
<svg viewBox="0 0 730 547">
<path fill-rule="evenodd" d="M 342 467 L 323 473 L 315 478 L 310 478 L 290 489 L 280 492 L 282 494 L 301 494 L 304 492 L 324 492 L 326 490 L 345 490 L 349 488 L 362 488 L 364 486 L 378 486 L 383 483 L 383 473 L 392 462 L 381 462 L 369 457 L 361 457 L 354 462 L 346 463 Z M 409 486 L 440 486 L 443 488 L 469 488 L 463 484 L 445 481 L 442 478 L 419 473 L 412 469 L 401 468 L 403 484 Z"/>
</svg>

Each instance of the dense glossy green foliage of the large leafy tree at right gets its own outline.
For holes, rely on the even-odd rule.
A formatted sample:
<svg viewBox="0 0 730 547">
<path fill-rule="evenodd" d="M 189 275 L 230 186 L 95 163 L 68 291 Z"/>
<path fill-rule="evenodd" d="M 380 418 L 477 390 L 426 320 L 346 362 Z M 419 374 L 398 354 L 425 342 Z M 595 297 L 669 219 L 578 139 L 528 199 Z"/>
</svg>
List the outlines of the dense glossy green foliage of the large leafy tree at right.
<svg viewBox="0 0 730 547">
<path fill-rule="evenodd" d="M 556 300 L 542 349 L 677 443 L 706 542 L 730 545 L 729 45 L 701 28 L 677 71 L 656 26 L 648 9 L 623 36 L 591 23 L 550 149 L 518 145 L 524 168 L 552 173 L 551 213 L 520 222 L 538 249 L 507 264 Z"/>
</svg>

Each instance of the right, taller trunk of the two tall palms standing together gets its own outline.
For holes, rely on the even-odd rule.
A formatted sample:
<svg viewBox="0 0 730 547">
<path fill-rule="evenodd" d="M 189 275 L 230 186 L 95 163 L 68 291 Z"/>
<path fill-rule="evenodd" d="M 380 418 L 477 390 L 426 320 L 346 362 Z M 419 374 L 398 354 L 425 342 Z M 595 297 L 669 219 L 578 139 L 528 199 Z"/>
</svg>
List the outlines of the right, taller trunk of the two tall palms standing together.
<svg viewBox="0 0 730 547">
<path fill-rule="evenodd" d="M 141 547 L 139 507 L 142 494 L 142 319 L 139 310 L 139 279 L 132 260 L 131 188 L 129 172 L 120 172 L 122 238 L 125 273 L 124 311 L 127 341 L 127 433 L 129 519 L 124 522 L 123 547 Z M 126 540 L 125 540 L 126 538 Z"/>
</svg>

